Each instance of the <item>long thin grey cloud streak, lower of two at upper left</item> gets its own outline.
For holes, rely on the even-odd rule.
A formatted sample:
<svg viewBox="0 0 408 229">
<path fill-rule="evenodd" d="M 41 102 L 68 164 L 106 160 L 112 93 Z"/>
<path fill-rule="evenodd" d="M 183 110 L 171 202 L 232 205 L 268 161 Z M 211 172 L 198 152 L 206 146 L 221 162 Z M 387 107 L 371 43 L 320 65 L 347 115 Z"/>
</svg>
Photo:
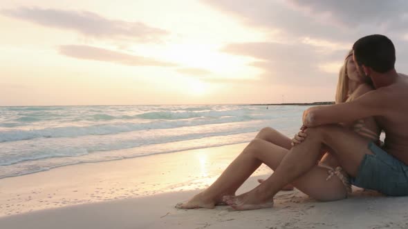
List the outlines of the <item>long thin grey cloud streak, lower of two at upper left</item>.
<svg viewBox="0 0 408 229">
<path fill-rule="evenodd" d="M 147 57 L 138 57 L 92 46 L 59 46 L 59 53 L 77 59 L 120 63 L 125 66 L 177 66 L 175 63 L 157 61 Z"/>
</svg>

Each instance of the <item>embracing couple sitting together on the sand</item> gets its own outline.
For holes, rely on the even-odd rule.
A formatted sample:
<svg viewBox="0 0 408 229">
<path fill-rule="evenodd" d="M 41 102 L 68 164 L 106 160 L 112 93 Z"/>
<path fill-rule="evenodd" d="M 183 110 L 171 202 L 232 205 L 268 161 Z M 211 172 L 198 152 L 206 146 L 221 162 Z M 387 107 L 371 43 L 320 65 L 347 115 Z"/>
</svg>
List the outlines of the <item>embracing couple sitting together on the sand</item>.
<svg viewBox="0 0 408 229">
<path fill-rule="evenodd" d="M 390 39 L 362 37 L 344 60 L 336 104 L 306 110 L 304 126 L 292 140 L 263 128 L 219 179 L 176 207 L 270 208 L 288 185 L 320 201 L 346 198 L 351 184 L 388 196 L 408 195 L 408 77 L 396 72 L 395 61 Z M 261 163 L 275 172 L 235 196 Z"/>
</svg>

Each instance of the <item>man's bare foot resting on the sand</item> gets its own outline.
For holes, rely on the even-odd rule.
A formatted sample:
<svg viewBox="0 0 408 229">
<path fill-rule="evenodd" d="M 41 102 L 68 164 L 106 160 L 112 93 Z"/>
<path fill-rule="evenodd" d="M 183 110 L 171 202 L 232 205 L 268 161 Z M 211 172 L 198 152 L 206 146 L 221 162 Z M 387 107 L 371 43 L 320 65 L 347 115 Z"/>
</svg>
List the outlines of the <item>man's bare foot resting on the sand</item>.
<svg viewBox="0 0 408 229">
<path fill-rule="evenodd" d="M 239 196 L 224 196 L 223 201 L 235 210 L 254 210 L 273 206 L 273 199 L 261 200 L 253 192 Z"/>
</svg>

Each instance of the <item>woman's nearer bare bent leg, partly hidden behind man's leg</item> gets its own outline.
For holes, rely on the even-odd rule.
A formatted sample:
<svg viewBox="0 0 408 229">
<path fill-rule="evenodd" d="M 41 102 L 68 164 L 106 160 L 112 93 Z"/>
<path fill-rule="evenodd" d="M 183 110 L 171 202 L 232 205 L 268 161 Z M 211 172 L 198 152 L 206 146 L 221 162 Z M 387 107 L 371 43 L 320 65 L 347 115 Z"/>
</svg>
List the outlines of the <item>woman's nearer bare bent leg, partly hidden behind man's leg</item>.
<svg viewBox="0 0 408 229">
<path fill-rule="evenodd" d="M 288 150 L 263 139 L 254 139 L 232 161 L 230 166 L 216 179 L 210 187 L 199 193 L 187 203 L 178 205 L 178 208 L 214 208 L 222 201 L 224 195 L 235 192 L 242 183 L 257 170 L 261 163 L 275 170 Z M 296 188 L 310 197 L 322 201 L 343 199 L 346 197 L 346 188 L 342 181 L 333 177 L 326 181 L 327 170 L 315 167 L 310 172 L 293 182 Z"/>
</svg>

